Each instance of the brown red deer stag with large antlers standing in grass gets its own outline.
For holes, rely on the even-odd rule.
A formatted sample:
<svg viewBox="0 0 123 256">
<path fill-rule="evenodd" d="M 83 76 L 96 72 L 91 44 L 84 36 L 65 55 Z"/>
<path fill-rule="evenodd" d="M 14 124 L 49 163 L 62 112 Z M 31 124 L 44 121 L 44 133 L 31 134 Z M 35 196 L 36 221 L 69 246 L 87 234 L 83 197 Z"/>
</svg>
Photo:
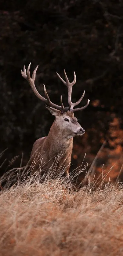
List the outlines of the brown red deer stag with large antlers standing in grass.
<svg viewBox="0 0 123 256">
<path fill-rule="evenodd" d="M 63 105 L 62 95 L 60 97 L 60 105 L 56 105 L 50 101 L 48 93 L 46 91 L 44 85 L 45 97 L 43 97 L 35 87 L 35 77 L 38 66 L 34 69 L 32 77 L 30 75 L 30 66 L 29 64 L 27 71 L 24 65 L 24 70 L 21 70 L 22 77 L 27 80 L 34 94 L 43 102 L 45 102 L 45 108 L 49 110 L 49 112 L 55 116 L 55 120 L 52 123 L 52 126 L 49 130 L 48 136 L 41 137 L 36 140 L 33 144 L 29 165 L 33 165 L 32 173 L 34 174 L 37 170 L 41 169 L 41 174 L 48 173 L 49 169 L 51 170 L 51 166 L 53 166 L 54 159 L 58 155 L 60 157 L 57 160 L 55 172 L 59 173 L 60 166 L 66 166 L 64 168 L 63 176 L 67 177 L 70 181 L 69 177 L 69 169 L 71 164 L 71 154 L 73 149 L 73 138 L 76 136 L 82 136 L 85 133 L 85 130 L 78 123 L 76 117 L 74 117 L 74 112 L 84 110 L 89 105 L 89 99 L 87 104 L 80 108 L 76 107 L 85 95 L 85 91 L 80 97 L 80 99 L 72 103 L 72 87 L 76 83 L 76 74 L 74 72 L 74 80 L 73 82 L 69 82 L 66 72 L 64 70 L 65 81 L 62 77 L 56 72 L 58 78 L 63 82 L 68 89 L 68 107 Z"/>
</svg>

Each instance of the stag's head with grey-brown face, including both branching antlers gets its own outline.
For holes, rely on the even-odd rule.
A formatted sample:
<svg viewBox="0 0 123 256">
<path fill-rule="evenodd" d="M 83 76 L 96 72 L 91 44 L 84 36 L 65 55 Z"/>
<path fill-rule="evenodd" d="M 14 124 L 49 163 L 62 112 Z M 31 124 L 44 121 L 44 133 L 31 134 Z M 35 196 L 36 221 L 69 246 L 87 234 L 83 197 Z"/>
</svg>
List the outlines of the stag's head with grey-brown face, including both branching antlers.
<svg viewBox="0 0 123 256">
<path fill-rule="evenodd" d="M 42 97 L 38 93 L 38 91 L 35 87 L 35 84 L 34 84 L 34 80 L 35 80 L 36 71 L 37 71 L 38 66 L 33 71 L 32 78 L 31 78 L 31 76 L 30 76 L 30 65 L 31 65 L 31 63 L 29 64 L 29 66 L 27 68 L 27 72 L 26 72 L 26 68 L 25 68 L 25 65 L 24 65 L 24 71 L 21 70 L 21 74 L 24 77 L 24 79 L 26 79 L 29 82 L 29 84 L 30 84 L 33 92 L 35 93 L 35 95 L 40 100 L 44 101 L 48 105 L 48 106 L 45 105 L 45 107 L 49 110 L 49 112 L 52 115 L 55 115 L 55 121 L 54 122 L 55 122 L 55 125 L 57 126 L 57 130 L 59 130 L 62 133 L 63 137 L 68 138 L 68 139 L 72 138 L 72 137 L 75 137 L 75 136 L 83 135 L 85 133 L 85 130 L 80 126 L 77 119 L 74 117 L 74 112 L 78 111 L 78 110 L 85 109 L 89 105 L 90 100 L 88 100 L 87 104 L 84 107 L 74 109 L 74 107 L 77 106 L 81 102 L 81 100 L 83 99 L 84 94 L 85 94 L 85 91 L 84 91 L 81 98 L 77 102 L 72 103 L 72 101 L 71 101 L 72 86 L 76 82 L 75 72 L 74 72 L 74 80 L 71 83 L 69 82 L 69 80 L 67 78 L 65 70 L 64 70 L 64 75 L 65 75 L 66 82 L 56 72 L 56 74 L 58 75 L 60 80 L 68 88 L 68 104 L 69 104 L 69 106 L 64 107 L 63 102 L 62 102 L 62 96 L 60 98 L 61 106 L 58 106 L 58 105 L 56 105 L 56 104 L 54 104 L 50 101 L 49 96 L 48 96 L 47 91 L 46 91 L 46 88 L 45 88 L 45 85 L 44 85 L 44 92 L 45 92 L 46 98 Z"/>
</svg>

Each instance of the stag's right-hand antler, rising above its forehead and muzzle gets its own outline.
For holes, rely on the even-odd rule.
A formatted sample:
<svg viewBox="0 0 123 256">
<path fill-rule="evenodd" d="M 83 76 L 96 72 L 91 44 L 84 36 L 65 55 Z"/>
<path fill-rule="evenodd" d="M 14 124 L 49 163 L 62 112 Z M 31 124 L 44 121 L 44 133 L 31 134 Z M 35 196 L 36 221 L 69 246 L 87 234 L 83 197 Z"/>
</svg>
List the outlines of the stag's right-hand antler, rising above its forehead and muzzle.
<svg viewBox="0 0 123 256">
<path fill-rule="evenodd" d="M 81 98 L 80 98 L 77 102 L 72 103 L 72 101 L 71 101 L 72 87 L 73 87 L 73 85 L 74 85 L 75 82 L 76 82 L 76 74 L 75 74 L 75 72 L 74 72 L 74 80 L 73 80 L 73 82 L 71 82 L 71 83 L 70 83 L 69 80 L 68 80 L 68 77 L 67 77 L 67 75 L 66 75 L 65 70 L 64 70 L 64 75 L 65 75 L 65 80 L 66 80 L 66 82 L 61 78 L 61 76 L 60 76 L 57 72 L 56 72 L 56 74 L 58 75 L 58 77 L 60 78 L 60 80 L 63 82 L 63 84 L 65 84 L 65 85 L 67 86 L 67 88 L 68 88 L 69 110 L 70 110 L 71 112 L 75 112 L 75 111 L 83 110 L 83 109 L 87 108 L 87 106 L 89 105 L 90 100 L 88 100 L 87 104 L 86 104 L 84 107 L 75 108 L 75 109 L 74 109 L 74 107 L 77 106 L 77 105 L 81 102 L 81 100 L 83 99 L 83 97 L 84 97 L 84 95 L 85 95 L 85 91 L 84 91 L 84 93 L 82 94 Z"/>
</svg>

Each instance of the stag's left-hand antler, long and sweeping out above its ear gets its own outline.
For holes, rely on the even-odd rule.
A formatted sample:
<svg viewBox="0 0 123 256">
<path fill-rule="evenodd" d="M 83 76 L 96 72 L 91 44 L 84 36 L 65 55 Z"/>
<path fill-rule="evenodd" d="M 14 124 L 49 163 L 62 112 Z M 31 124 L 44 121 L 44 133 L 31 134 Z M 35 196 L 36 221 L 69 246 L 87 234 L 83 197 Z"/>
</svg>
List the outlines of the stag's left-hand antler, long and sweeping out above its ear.
<svg viewBox="0 0 123 256">
<path fill-rule="evenodd" d="M 56 108 L 56 109 L 61 110 L 63 112 L 69 110 L 69 107 L 64 108 L 63 103 L 62 103 L 62 96 L 61 96 L 61 106 L 56 105 L 56 104 L 54 104 L 50 101 L 49 96 L 48 96 L 47 91 L 46 91 L 46 88 L 45 88 L 45 85 L 44 85 L 44 92 L 45 92 L 46 99 L 43 96 L 41 96 L 40 93 L 38 93 L 38 91 L 35 87 L 35 84 L 34 84 L 34 80 L 35 80 L 36 71 L 38 69 L 38 66 L 34 69 L 33 74 L 32 74 L 32 78 L 31 78 L 31 76 L 30 76 L 30 65 L 31 65 L 31 63 L 29 64 L 29 66 L 27 68 L 27 72 L 26 72 L 26 68 L 25 68 L 25 65 L 24 65 L 24 71 L 21 70 L 21 74 L 24 77 L 24 79 L 26 79 L 29 82 L 29 84 L 30 84 L 33 92 L 35 93 L 35 95 L 40 100 L 44 101 L 46 104 L 48 104 L 52 108 Z"/>
</svg>

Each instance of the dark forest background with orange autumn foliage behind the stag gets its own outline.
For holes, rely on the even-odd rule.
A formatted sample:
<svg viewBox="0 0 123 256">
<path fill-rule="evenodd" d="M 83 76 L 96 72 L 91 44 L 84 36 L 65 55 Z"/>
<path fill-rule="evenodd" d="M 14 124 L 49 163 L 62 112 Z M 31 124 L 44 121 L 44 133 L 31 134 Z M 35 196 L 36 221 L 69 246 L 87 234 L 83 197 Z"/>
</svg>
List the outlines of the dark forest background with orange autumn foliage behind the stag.
<svg viewBox="0 0 123 256">
<path fill-rule="evenodd" d="M 66 70 L 69 80 L 76 72 L 72 100 L 85 90 L 75 116 L 86 133 L 74 139 L 72 164 L 96 161 L 96 173 L 110 171 L 116 179 L 123 158 L 123 1 L 111 0 L 1 0 L 0 4 L 0 151 L 8 148 L 2 172 L 29 159 L 32 145 L 46 136 L 54 118 L 21 76 L 24 64 L 31 71 L 39 64 L 36 87 L 51 101 L 67 106 L 67 88 L 57 78 Z M 19 157 L 16 157 L 18 156 Z M 11 162 L 11 163 L 10 163 Z M 10 165 L 9 167 L 8 164 Z M 8 170 L 8 169 L 6 169 Z"/>
</svg>

